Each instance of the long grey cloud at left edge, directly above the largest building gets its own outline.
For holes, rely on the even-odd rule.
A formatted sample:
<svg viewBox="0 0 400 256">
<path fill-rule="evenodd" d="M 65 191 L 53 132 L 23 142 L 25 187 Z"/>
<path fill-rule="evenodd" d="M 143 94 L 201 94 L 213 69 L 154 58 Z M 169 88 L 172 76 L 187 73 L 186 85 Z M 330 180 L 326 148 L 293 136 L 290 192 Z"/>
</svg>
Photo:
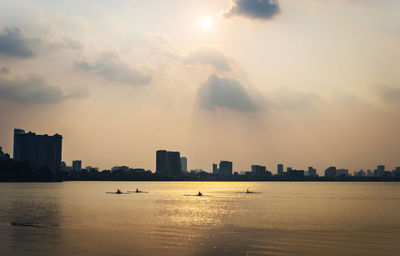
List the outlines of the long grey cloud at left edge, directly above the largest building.
<svg viewBox="0 0 400 256">
<path fill-rule="evenodd" d="M 14 80 L 0 79 L 0 98 L 21 103 L 55 103 L 70 98 L 86 98 L 86 87 L 74 87 L 69 92 L 50 86 L 40 75 L 28 75 Z"/>
</svg>

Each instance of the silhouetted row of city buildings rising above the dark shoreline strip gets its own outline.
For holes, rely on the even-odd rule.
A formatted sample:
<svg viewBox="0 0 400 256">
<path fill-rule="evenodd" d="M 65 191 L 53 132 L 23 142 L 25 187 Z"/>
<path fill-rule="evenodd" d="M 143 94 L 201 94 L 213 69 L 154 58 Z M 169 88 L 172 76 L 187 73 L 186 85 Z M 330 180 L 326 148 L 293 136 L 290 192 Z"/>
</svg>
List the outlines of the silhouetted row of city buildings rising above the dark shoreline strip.
<svg viewBox="0 0 400 256">
<path fill-rule="evenodd" d="M 212 174 L 220 177 L 231 177 L 237 175 L 253 176 L 258 178 L 266 178 L 268 176 L 276 177 L 318 177 L 324 176 L 328 178 L 335 178 L 340 176 L 354 176 L 354 177 L 392 177 L 397 178 L 400 176 L 400 167 L 396 166 L 391 171 L 386 169 L 385 165 L 377 165 L 375 170 L 373 169 L 361 169 L 361 170 L 349 170 L 345 168 L 337 168 L 332 165 L 323 171 L 318 172 L 313 166 L 308 168 L 297 169 L 292 166 L 285 166 L 284 163 L 278 163 L 276 169 L 269 169 L 266 165 L 251 164 L 250 169 L 237 170 L 233 168 L 233 162 L 227 160 L 220 160 L 219 166 L 216 163 L 212 163 L 211 169 L 191 169 L 188 168 L 188 159 L 185 156 L 181 156 L 179 151 L 168 151 L 165 149 L 156 151 L 156 168 L 154 171 L 148 168 L 127 166 L 127 165 L 115 165 L 110 169 L 100 169 L 99 167 L 93 167 L 87 165 L 82 168 L 82 160 L 73 160 L 70 166 L 62 159 L 62 135 L 56 133 L 52 136 L 48 134 L 36 134 L 35 132 L 25 132 L 23 129 L 14 128 L 14 143 L 13 143 L 13 154 L 11 159 L 16 162 L 26 162 L 31 168 L 49 168 L 53 173 L 58 171 L 87 171 L 89 174 L 96 174 L 100 172 L 110 172 L 120 174 L 127 174 L 129 171 L 139 172 L 150 172 L 154 173 L 159 177 L 180 177 L 186 174 L 200 174 L 202 172 Z M 10 155 L 2 151 L 0 146 L 0 159 L 9 160 Z M 286 168 L 286 171 L 285 169 Z M 146 170 L 147 169 L 147 170 Z M 100 172 L 99 172 L 100 171 Z M 122 172 L 121 172 L 122 171 Z M 323 175 L 322 175 L 323 174 Z"/>
</svg>

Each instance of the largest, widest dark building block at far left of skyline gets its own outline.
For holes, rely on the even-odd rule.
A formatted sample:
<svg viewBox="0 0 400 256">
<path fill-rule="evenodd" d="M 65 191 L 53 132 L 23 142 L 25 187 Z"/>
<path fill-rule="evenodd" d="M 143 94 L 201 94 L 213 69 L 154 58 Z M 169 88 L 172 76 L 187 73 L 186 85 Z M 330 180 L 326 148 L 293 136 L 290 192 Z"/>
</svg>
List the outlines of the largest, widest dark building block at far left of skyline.
<svg viewBox="0 0 400 256">
<path fill-rule="evenodd" d="M 61 164 L 62 136 L 36 135 L 14 129 L 14 160 L 27 161 L 34 167 L 56 169 Z"/>
</svg>

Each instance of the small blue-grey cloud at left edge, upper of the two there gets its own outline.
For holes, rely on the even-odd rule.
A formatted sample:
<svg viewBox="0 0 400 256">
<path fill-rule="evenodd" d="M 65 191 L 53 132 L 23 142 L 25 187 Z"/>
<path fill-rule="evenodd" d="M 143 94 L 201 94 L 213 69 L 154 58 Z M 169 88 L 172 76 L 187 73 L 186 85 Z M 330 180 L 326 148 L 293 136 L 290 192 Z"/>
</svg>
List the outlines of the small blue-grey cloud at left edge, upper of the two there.
<svg viewBox="0 0 400 256">
<path fill-rule="evenodd" d="M 4 28 L 0 32 L 0 53 L 19 58 L 32 58 L 33 41 L 25 37 L 18 28 Z"/>
</svg>

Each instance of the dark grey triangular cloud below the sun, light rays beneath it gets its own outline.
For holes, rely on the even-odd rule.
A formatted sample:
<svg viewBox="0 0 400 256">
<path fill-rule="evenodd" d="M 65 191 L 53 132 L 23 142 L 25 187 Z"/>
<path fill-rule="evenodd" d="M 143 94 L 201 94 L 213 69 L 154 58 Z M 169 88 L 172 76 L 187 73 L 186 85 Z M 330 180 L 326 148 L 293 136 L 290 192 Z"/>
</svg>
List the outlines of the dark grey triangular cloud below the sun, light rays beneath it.
<svg viewBox="0 0 400 256">
<path fill-rule="evenodd" d="M 245 88 L 236 80 L 210 75 L 197 91 L 200 107 L 208 110 L 228 108 L 238 111 L 257 111 Z"/>
</svg>

